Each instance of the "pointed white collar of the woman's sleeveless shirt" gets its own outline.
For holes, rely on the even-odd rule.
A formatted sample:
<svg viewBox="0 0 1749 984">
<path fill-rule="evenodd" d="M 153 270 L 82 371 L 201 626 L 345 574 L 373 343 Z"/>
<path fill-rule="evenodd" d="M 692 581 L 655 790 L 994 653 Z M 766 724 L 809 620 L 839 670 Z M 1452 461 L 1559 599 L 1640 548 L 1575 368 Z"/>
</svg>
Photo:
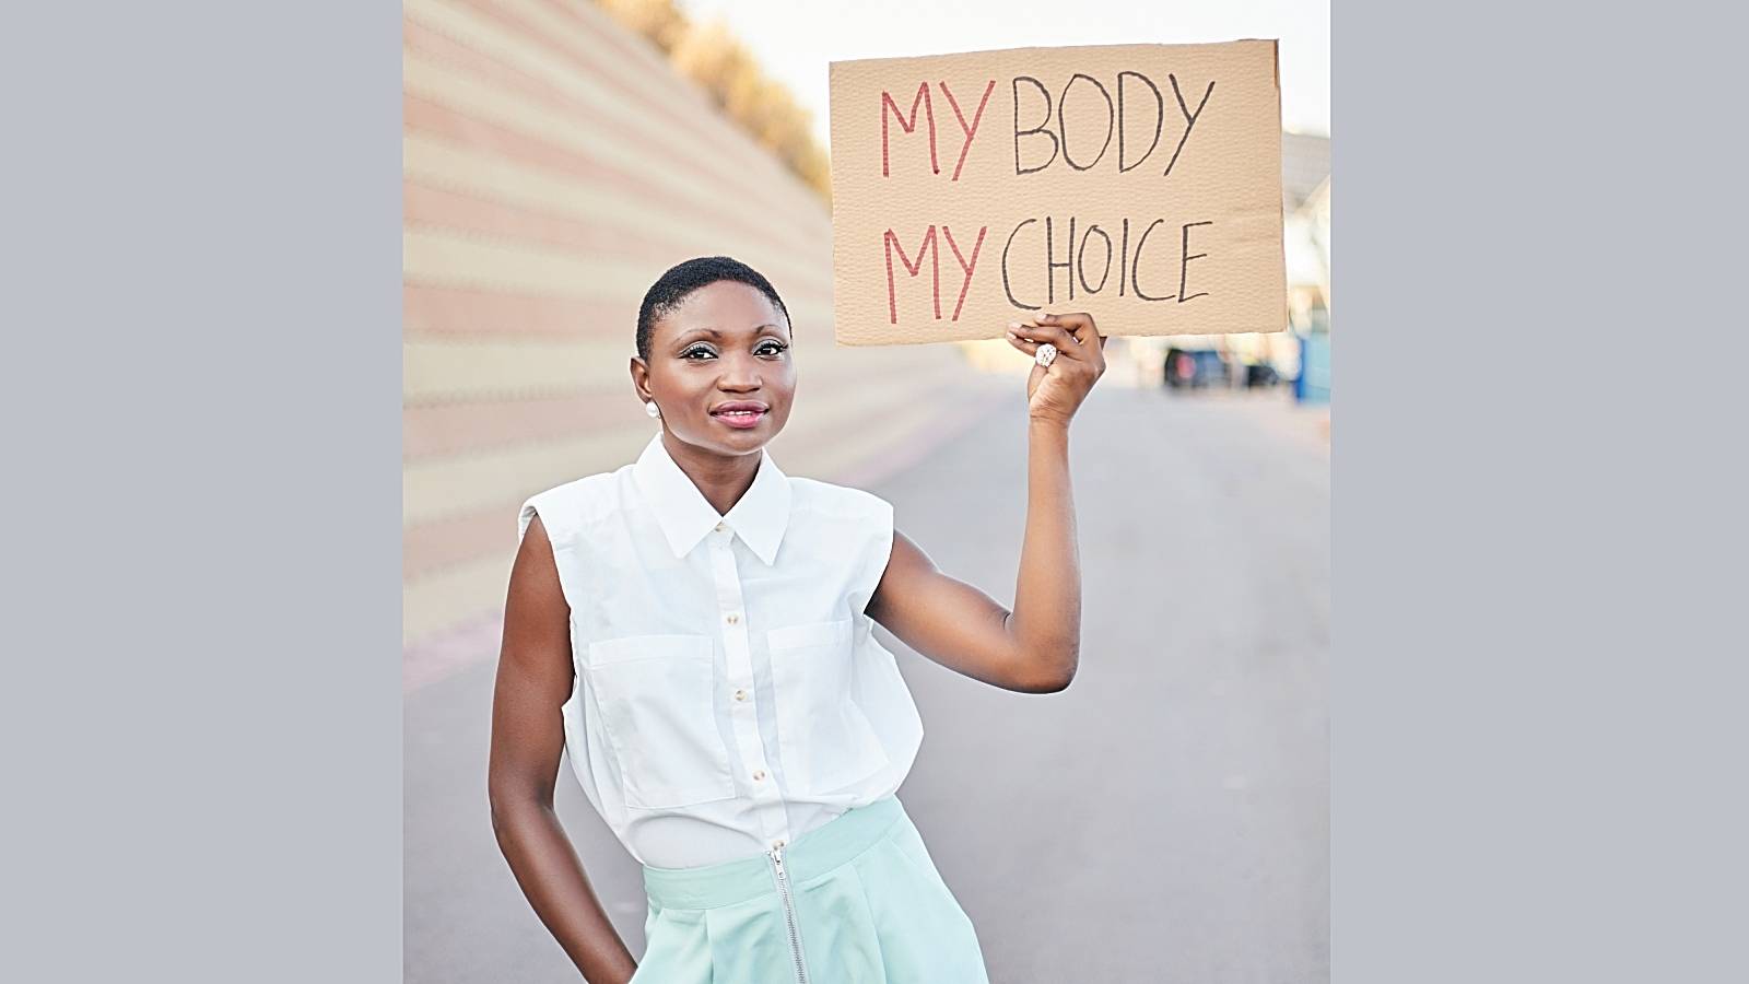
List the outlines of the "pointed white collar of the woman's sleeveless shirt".
<svg viewBox="0 0 1749 984">
<path fill-rule="evenodd" d="M 777 546 L 784 539 L 784 527 L 789 524 L 789 478 L 778 471 L 770 452 L 759 448 L 759 471 L 754 483 L 740 497 L 728 515 L 719 515 L 705 494 L 693 485 L 658 432 L 644 446 L 631 476 L 644 494 L 644 501 L 656 513 L 663 536 L 675 557 L 686 557 L 717 524 L 724 524 L 735 536 L 742 538 L 761 560 L 770 566 L 777 560 Z"/>
</svg>

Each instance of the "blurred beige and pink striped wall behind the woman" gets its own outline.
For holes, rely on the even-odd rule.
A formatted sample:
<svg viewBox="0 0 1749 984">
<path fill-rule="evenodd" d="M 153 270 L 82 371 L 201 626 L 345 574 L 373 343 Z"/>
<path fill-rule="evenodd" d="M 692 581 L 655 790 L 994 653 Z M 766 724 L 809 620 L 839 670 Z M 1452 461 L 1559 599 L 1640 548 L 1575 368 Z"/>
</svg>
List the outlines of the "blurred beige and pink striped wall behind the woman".
<svg viewBox="0 0 1749 984">
<path fill-rule="evenodd" d="M 626 361 L 680 259 L 784 294 L 791 474 L 871 478 L 993 399 L 951 345 L 836 348 L 827 207 L 591 4 L 408 0 L 402 58 L 409 685 L 497 653 L 518 504 L 654 432 Z"/>
</svg>

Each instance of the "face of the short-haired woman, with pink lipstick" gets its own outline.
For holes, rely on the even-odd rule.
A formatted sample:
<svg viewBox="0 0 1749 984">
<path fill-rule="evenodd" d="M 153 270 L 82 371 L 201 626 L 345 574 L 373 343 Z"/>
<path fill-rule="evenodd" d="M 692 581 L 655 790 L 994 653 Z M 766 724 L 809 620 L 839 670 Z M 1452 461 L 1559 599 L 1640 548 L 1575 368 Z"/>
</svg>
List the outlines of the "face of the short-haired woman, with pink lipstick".
<svg viewBox="0 0 1749 984">
<path fill-rule="evenodd" d="M 640 371 L 633 359 L 631 382 L 640 399 L 656 401 L 675 438 L 745 455 L 789 420 L 796 394 L 789 345 L 789 322 L 763 292 L 717 280 L 656 320 L 649 362 Z"/>
</svg>

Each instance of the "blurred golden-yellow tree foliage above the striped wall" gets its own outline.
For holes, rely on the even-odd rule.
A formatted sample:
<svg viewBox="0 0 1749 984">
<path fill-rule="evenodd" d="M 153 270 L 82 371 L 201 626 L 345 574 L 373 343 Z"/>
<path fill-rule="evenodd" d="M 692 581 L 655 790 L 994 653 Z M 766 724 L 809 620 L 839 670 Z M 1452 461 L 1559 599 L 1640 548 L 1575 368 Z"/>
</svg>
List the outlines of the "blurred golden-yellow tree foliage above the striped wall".
<svg viewBox="0 0 1749 984">
<path fill-rule="evenodd" d="M 703 88 L 729 119 L 824 201 L 833 200 L 831 159 L 813 138 L 813 116 L 785 86 L 766 77 L 721 18 L 698 25 L 673 0 L 596 2 L 661 49 L 677 72 Z"/>
</svg>

